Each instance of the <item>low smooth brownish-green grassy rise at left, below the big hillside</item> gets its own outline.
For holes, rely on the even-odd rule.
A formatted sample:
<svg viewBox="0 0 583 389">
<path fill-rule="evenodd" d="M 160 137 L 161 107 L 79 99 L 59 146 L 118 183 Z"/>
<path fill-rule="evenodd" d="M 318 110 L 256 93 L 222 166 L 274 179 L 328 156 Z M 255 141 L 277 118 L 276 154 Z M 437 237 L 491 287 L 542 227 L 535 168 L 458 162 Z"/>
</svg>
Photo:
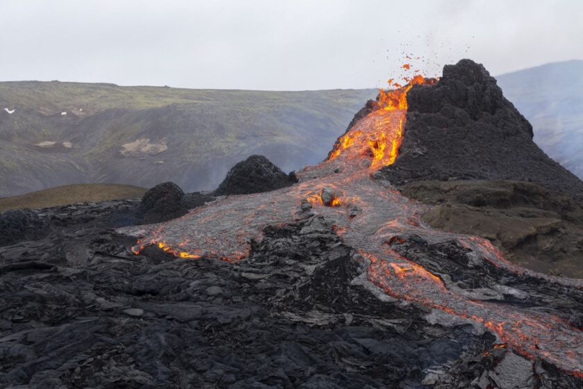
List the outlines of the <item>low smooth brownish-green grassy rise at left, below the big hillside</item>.
<svg viewBox="0 0 583 389">
<path fill-rule="evenodd" d="M 146 190 L 131 185 L 107 183 L 64 185 L 0 199 L 0 212 L 18 208 L 44 208 L 65 206 L 87 201 L 135 199 L 142 197 Z"/>
</svg>

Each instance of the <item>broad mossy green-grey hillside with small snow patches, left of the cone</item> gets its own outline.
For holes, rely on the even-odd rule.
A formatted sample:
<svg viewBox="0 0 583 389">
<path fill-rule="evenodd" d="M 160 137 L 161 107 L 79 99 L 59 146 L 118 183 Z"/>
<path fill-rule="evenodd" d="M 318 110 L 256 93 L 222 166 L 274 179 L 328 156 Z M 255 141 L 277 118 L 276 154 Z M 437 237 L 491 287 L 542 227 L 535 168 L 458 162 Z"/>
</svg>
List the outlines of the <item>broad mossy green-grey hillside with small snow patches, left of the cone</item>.
<svg viewBox="0 0 583 389">
<path fill-rule="evenodd" d="M 210 190 L 252 154 L 297 169 L 375 94 L 0 83 L 0 196 L 92 182 Z"/>
</svg>

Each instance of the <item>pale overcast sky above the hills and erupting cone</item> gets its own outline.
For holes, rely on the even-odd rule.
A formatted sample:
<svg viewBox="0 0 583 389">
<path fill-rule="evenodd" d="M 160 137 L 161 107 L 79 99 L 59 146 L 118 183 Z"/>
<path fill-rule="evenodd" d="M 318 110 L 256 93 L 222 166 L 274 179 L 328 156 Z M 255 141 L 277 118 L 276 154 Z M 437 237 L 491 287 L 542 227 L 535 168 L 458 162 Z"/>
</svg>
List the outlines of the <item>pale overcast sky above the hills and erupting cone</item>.
<svg viewBox="0 0 583 389">
<path fill-rule="evenodd" d="M 316 90 L 583 58 L 583 1 L 0 0 L 0 81 Z"/>
</svg>

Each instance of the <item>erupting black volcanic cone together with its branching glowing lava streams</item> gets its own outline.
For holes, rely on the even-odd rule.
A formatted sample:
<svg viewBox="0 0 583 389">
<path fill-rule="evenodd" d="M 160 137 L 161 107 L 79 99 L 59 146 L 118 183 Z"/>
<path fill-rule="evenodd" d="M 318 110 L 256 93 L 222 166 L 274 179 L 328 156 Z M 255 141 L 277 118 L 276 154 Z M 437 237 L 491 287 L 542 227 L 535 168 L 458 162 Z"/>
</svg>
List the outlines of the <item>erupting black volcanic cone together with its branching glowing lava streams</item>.
<svg viewBox="0 0 583 389">
<path fill-rule="evenodd" d="M 460 147 L 468 142 L 473 147 Z M 401 144 L 403 154 L 398 157 Z M 482 149 L 484 144 L 488 147 Z M 446 152 L 446 147 L 453 150 Z M 415 153 L 423 158 L 415 158 Z M 432 158 L 435 154 L 441 158 Z M 385 167 L 382 173 L 371 177 L 380 167 Z M 548 277 L 513 267 L 487 240 L 426 228 L 419 220 L 423 206 L 401 197 L 382 179 L 392 179 L 396 175 L 392 172 L 414 178 L 421 176 L 418 172 L 442 174 L 439 169 L 480 176 L 478 167 L 487 178 L 535 179 L 570 192 L 583 188 L 534 145 L 532 128 L 502 97 L 487 71 L 462 60 L 446 66 L 438 82 L 416 76 L 403 88 L 382 92 L 371 112 L 339 138 L 326 161 L 296 173 L 299 183 L 292 188 L 267 196 L 218 199 L 179 220 L 152 227 L 135 251 L 157 245 L 180 258 L 242 260 L 270 226 L 321 216 L 353 247 L 355 258 L 366 267 L 367 282 L 375 288 L 485 326 L 519 354 L 583 374 L 582 334 L 566 317 L 498 302 L 516 298 L 516 290 L 508 290 L 499 277 Z M 401 254 L 399 247 L 412 237 L 426 247 L 449 242 L 480 263 L 465 260 L 466 267 L 476 266 L 475 273 L 499 275 L 474 287 L 444 273 L 443 263 L 434 263 L 430 272 L 419 260 Z M 548 281 L 561 288 L 583 286 L 567 279 Z"/>
</svg>

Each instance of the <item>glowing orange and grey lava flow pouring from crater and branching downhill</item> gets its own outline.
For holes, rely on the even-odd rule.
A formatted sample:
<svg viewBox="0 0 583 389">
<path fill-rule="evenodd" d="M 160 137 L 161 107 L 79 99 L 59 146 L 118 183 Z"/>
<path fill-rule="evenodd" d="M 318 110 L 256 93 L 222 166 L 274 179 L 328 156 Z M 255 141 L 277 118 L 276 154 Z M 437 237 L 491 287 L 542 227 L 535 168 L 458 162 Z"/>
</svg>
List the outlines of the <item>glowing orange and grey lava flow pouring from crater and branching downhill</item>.
<svg viewBox="0 0 583 389">
<path fill-rule="evenodd" d="M 402 88 L 382 92 L 380 109 L 360 119 L 342 135 L 327 160 L 298 172 L 296 185 L 273 192 L 219 198 L 179 219 L 142 226 L 146 231 L 134 251 L 158 245 L 181 258 L 240 260 L 248 256 L 251 240 L 260 240 L 267 226 L 305 217 L 301 208 L 310 203 L 311 212 L 333 224 L 346 245 L 368 259 L 369 281 L 387 295 L 480 323 L 496 333 L 500 343 L 582 375 L 580 330 L 547 313 L 471 299 L 459 290 L 450 290 L 439 274 L 431 274 L 386 244 L 396 236 L 413 233 L 430 243 L 455 240 L 498 267 L 524 272 L 510 265 L 486 240 L 423 226 L 420 216 L 426 206 L 401 196 L 386 181 L 371 177 L 379 167 L 396 160 L 406 120 L 407 91 L 414 83 L 423 82 L 430 81 L 416 76 Z M 329 206 L 323 201 L 325 192 L 330 198 Z M 557 282 L 583 286 L 573 280 Z"/>
</svg>

